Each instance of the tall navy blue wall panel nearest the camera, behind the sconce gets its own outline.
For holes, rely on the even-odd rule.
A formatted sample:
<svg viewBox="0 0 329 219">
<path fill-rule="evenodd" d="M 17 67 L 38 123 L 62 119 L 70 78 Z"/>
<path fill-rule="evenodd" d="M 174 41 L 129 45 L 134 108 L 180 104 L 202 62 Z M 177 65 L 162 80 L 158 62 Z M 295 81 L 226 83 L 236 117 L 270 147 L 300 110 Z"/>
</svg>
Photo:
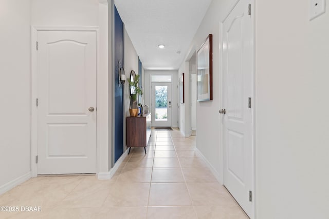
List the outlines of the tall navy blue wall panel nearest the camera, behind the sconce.
<svg viewBox="0 0 329 219">
<path fill-rule="evenodd" d="M 123 85 L 119 85 L 119 67 L 123 67 L 123 22 L 114 8 L 114 66 L 115 80 L 115 128 L 114 128 L 114 162 L 123 153 Z M 120 66 L 119 66 L 120 65 Z"/>
</svg>

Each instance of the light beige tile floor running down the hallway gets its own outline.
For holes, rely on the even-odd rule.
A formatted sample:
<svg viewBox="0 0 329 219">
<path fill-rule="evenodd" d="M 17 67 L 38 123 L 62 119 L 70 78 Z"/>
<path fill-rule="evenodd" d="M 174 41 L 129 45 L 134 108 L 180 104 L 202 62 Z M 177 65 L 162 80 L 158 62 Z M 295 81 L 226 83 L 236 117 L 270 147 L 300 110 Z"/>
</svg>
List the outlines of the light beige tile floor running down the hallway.
<svg viewBox="0 0 329 219">
<path fill-rule="evenodd" d="M 1 212 L 0 218 L 246 219 L 195 151 L 195 136 L 153 131 L 132 148 L 111 180 L 40 176 L 0 196 L 0 206 L 41 206 L 41 212 Z"/>
</svg>

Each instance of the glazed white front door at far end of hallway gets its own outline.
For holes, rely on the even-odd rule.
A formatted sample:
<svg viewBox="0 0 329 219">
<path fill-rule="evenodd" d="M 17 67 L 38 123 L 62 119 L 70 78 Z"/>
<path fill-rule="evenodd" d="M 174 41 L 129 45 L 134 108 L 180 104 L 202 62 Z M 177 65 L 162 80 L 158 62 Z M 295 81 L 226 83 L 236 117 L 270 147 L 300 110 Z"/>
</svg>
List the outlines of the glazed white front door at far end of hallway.
<svg viewBox="0 0 329 219">
<path fill-rule="evenodd" d="M 171 83 L 152 83 L 152 126 L 171 127 Z"/>
</svg>

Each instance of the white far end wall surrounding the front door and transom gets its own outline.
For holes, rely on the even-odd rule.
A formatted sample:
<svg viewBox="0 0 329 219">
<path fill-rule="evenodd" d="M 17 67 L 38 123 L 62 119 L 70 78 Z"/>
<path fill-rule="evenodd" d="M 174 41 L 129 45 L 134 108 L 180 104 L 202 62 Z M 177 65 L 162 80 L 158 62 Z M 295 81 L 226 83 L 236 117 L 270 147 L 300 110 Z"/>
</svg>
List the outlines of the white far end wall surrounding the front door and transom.
<svg viewBox="0 0 329 219">
<path fill-rule="evenodd" d="M 177 110 L 178 110 L 178 75 L 177 71 L 167 71 L 167 70 L 147 70 L 145 69 L 144 75 L 144 103 L 150 107 L 149 112 L 151 112 L 151 75 L 160 74 L 160 75 L 172 75 L 172 84 L 171 84 L 171 127 L 178 127 L 177 121 Z M 152 115 L 154 116 L 154 115 Z"/>
</svg>

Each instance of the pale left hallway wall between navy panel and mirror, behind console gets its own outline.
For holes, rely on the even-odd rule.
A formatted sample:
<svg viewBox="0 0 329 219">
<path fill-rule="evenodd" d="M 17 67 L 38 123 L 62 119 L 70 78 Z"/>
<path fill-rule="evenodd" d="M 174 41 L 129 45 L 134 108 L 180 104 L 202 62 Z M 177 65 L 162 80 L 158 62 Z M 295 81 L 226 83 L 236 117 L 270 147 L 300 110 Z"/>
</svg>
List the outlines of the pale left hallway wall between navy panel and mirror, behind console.
<svg viewBox="0 0 329 219">
<path fill-rule="evenodd" d="M 136 74 L 138 74 L 138 55 L 134 48 L 134 45 L 124 28 L 124 72 L 125 77 L 128 79 L 130 78 L 130 72 L 132 70 L 135 71 Z M 129 105 L 130 105 L 130 87 L 128 81 L 124 83 L 124 90 L 123 90 L 123 145 L 124 150 L 126 150 L 126 130 L 125 130 L 125 118 L 130 116 L 129 113 Z M 140 101 L 139 101 L 140 103 Z"/>
</svg>

